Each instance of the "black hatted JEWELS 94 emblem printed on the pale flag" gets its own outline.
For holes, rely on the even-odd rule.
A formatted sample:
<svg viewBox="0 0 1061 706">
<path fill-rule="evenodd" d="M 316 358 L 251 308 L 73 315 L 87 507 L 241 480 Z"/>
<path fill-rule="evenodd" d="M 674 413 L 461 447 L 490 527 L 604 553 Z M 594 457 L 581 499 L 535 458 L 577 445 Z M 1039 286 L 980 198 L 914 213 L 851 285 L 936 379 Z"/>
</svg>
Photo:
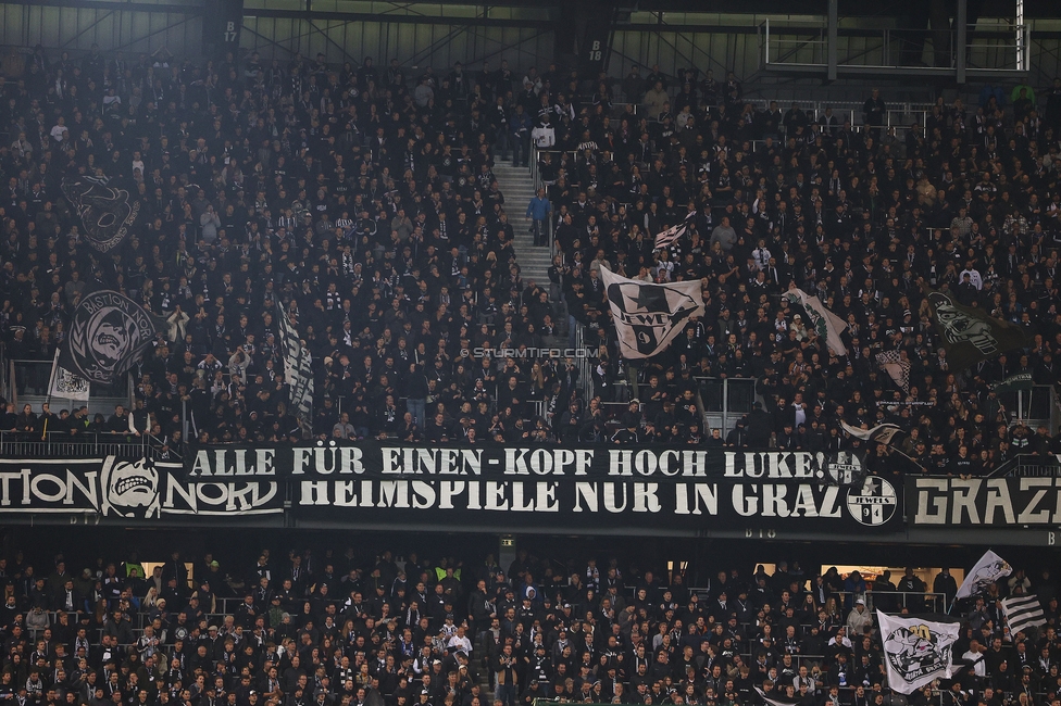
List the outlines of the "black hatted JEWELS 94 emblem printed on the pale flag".
<svg viewBox="0 0 1061 706">
<path fill-rule="evenodd" d="M 623 343 L 645 357 L 666 348 L 683 324 L 702 311 L 691 295 L 663 285 L 613 282 L 608 286 L 608 299 L 615 318 L 631 331 Z"/>
</svg>

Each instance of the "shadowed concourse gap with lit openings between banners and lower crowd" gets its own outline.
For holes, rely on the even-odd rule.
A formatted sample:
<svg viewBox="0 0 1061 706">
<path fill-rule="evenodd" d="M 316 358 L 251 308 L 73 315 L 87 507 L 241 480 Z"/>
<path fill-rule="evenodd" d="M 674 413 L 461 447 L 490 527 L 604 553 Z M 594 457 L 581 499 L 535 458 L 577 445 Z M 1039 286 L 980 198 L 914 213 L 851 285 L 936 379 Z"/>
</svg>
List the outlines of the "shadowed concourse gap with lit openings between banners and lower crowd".
<svg viewBox="0 0 1061 706">
<path fill-rule="evenodd" d="M 265 532 L 251 528 L 137 527 L 130 530 L 42 526 L 3 528 L 0 546 L 4 555 L 21 554 L 24 562 L 46 566 L 49 571 L 54 557 L 60 554 L 67 558 L 67 565 L 84 563 L 95 571 L 100 558 L 104 564 L 121 564 L 127 556 L 135 555 L 145 568 L 154 568 L 170 562 L 171 553 L 178 551 L 192 581 L 202 578 L 209 564 L 204 564 L 202 557 L 210 555 L 211 560 L 220 563 L 222 575 L 236 582 L 253 569 L 263 551 L 269 552 L 274 566 L 286 566 L 294 553 L 303 560 L 312 557 L 312 563 L 320 565 L 321 570 L 323 562 L 332 560 L 336 573 L 342 563 L 364 568 L 362 565 L 374 564 L 385 552 L 389 552 L 399 566 L 410 555 L 415 555 L 421 566 L 437 565 L 446 558 L 473 572 L 478 571 L 478 565 L 490 556 L 507 571 L 515 557 L 525 552 L 539 571 L 546 571 L 550 577 L 563 577 L 565 584 L 571 573 L 578 567 L 584 568 L 588 559 L 596 559 L 601 568 L 615 559 L 623 573 L 633 568 L 637 573 L 650 570 L 657 577 L 682 575 L 683 582 L 692 588 L 710 588 L 722 569 L 735 569 L 745 580 L 751 580 L 757 569 L 773 576 L 782 568 L 791 570 L 795 563 L 801 567 L 808 589 L 815 575 L 824 575 L 831 567 L 844 577 L 859 571 L 871 583 L 884 571 L 890 571 L 895 582 L 907 567 L 913 567 L 915 576 L 928 587 L 947 567 L 960 584 L 966 570 L 986 549 L 976 545 L 898 545 L 860 537 L 836 537 L 828 542 L 792 542 L 759 539 L 758 533 L 749 539 L 734 540 L 645 538 L 639 534 L 637 528 L 632 528 L 626 535 L 595 537 L 563 532 L 452 533 L 445 527 L 425 533 L 403 531 L 398 526 L 376 531 L 271 529 Z M 350 556 L 345 556 L 347 554 Z M 1004 554 L 1013 566 L 1029 567 L 1037 572 L 1040 565 L 1049 566 L 1057 560 L 1058 550 L 1007 547 Z"/>
</svg>

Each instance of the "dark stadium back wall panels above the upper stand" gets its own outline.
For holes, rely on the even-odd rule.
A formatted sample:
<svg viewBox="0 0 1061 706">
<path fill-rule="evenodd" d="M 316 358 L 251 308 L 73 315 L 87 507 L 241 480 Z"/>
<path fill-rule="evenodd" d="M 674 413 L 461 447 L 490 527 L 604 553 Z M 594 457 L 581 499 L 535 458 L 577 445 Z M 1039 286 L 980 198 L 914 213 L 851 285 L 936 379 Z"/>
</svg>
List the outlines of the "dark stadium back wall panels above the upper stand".
<svg viewBox="0 0 1061 706">
<path fill-rule="evenodd" d="M 227 28 L 233 22 L 230 8 L 236 3 L 200 2 L 198 0 L 168 3 L 113 3 L 74 2 L 73 0 L 40 0 L 39 2 L 0 2 L 0 46 L 26 49 L 37 43 L 57 53 L 67 50 L 73 56 L 88 51 L 98 43 L 103 51 L 122 49 L 126 52 L 152 53 L 165 48 L 175 55 L 214 55 L 225 43 Z M 483 61 L 497 66 L 505 59 L 514 71 L 525 71 L 530 65 L 550 61 L 573 63 L 585 52 L 585 23 L 576 22 L 577 3 L 549 3 L 528 7 L 527 3 L 502 3 L 489 9 L 471 4 L 446 3 L 432 5 L 428 15 L 396 9 L 383 15 L 361 15 L 336 11 L 307 11 L 264 5 L 261 2 L 242 3 L 242 24 L 238 31 L 238 46 L 242 53 L 258 51 L 264 59 L 288 60 L 295 53 L 313 56 L 324 53 L 329 62 L 360 62 L 365 55 L 397 56 L 407 67 L 451 67 L 461 61 L 467 66 L 478 66 Z M 801 7 L 802 5 L 802 7 Z M 932 3 L 903 3 L 888 7 L 888 14 L 877 9 L 866 9 L 864 3 L 841 2 L 840 15 L 846 27 L 877 27 L 889 22 L 901 31 L 923 33 L 946 23 L 953 15 L 951 0 Z M 310 5 L 312 8 L 312 4 Z M 596 5 L 595 5 L 596 7 Z M 648 67 L 659 64 L 661 70 L 674 74 L 678 70 L 712 68 L 716 76 L 733 70 L 747 80 L 757 76 L 758 88 L 763 92 L 749 92 L 749 98 L 776 98 L 785 101 L 799 96 L 802 99 L 844 100 L 848 90 L 851 100 L 861 90 L 863 81 L 838 81 L 828 89 L 820 81 L 797 79 L 776 81 L 761 73 L 760 24 L 763 14 L 807 14 L 824 18 L 824 3 L 756 3 L 758 14 L 748 12 L 748 5 L 722 7 L 715 12 L 721 20 L 709 20 L 702 3 L 669 1 L 640 3 L 638 11 L 620 16 L 620 23 L 609 33 L 601 59 L 610 55 L 609 75 L 622 78 L 632 65 Z M 437 12 L 435 11 L 437 10 Z M 664 14 L 650 14 L 665 10 Z M 987 10 L 984 3 L 969 3 L 969 20 L 974 23 Z M 1002 12 L 1002 9 L 995 9 Z M 692 13 L 685 16 L 683 13 Z M 1011 10 L 1006 10 L 1011 12 Z M 227 20 L 221 21 L 222 13 Z M 866 15 L 874 17 L 866 17 Z M 607 11 L 600 16 L 609 15 Z M 1056 16 L 1056 8 L 1049 3 L 1028 1 L 1025 16 Z M 929 16 L 932 22 L 929 23 Z M 890 20 L 889 20 L 890 17 Z M 779 21 L 779 20 L 778 20 Z M 716 23 L 711 25 L 709 23 Z M 1032 84 L 1049 80 L 1061 68 L 1061 38 L 1057 33 L 1033 33 Z M 854 53 L 869 50 L 867 38 L 846 39 Z M 602 42 L 602 45 L 606 42 Z M 208 45 L 214 45 L 210 47 Z M 863 47 L 864 49 L 860 49 Z M 586 48 L 588 51 L 588 47 Z M 596 51 L 596 50 L 595 50 Z M 586 53 L 588 58 L 589 54 Z M 928 61 L 933 61 L 928 58 Z M 17 60 L 2 62 L 4 71 L 17 65 Z M 938 62 L 937 62 L 938 63 Z M 909 87 L 911 83 L 907 81 Z M 916 81 L 922 89 L 924 81 Z M 850 85 L 850 88 L 849 88 Z M 888 81 L 893 100 L 915 100 L 908 87 Z M 908 94 L 902 94 L 907 92 Z M 924 90 L 920 91 L 923 93 Z M 920 94 L 919 93 L 919 94 Z"/>
</svg>

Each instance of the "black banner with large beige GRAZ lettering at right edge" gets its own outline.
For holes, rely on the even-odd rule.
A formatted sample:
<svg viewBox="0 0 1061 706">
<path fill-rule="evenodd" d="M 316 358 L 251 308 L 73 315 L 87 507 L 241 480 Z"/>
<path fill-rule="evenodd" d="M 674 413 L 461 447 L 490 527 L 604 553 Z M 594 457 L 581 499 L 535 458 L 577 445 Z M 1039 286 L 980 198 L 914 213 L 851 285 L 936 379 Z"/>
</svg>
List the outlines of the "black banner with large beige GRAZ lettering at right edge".
<svg viewBox="0 0 1061 706">
<path fill-rule="evenodd" d="M 985 529 L 1061 525 L 1061 478 L 938 478 L 906 481 L 913 527 Z"/>
</svg>

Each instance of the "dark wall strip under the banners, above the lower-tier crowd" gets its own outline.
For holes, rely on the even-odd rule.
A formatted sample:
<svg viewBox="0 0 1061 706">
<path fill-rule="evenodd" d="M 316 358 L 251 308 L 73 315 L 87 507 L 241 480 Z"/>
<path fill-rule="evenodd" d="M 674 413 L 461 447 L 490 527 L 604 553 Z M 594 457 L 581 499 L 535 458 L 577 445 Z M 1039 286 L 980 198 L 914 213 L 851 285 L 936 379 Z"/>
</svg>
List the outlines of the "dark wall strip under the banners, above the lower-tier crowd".
<svg viewBox="0 0 1061 706">
<path fill-rule="evenodd" d="M 984 545 L 919 546 L 879 544 L 849 538 L 846 542 L 790 542 L 766 540 L 672 540 L 601 538 L 591 534 L 511 535 L 515 550 L 532 556 L 548 558 L 556 568 L 567 562 L 584 563 L 597 557 L 607 566 L 609 557 L 621 557 L 624 565 L 641 570 L 666 571 L 669 566 L 685 564 L 687 584 L 703 587 L 720 569 L 737 568 L 749 577 L 758 564 L 798 562 L 813 576 L 821 566 L 913 566 L 969 567 L 988 547 Z M 71 557 L 101 556 L 104 560 L 121 562 L 136 552 L 143 562 L 165 560 L 177 550 L 189 562 L 212 553 L 225 567 L 253 566 L 263 549 L 274 556 L 286 556 L 292 549 L 310 549 L 323 556 L 330 549 L 341 554 L 354 546 L 362 554 L 379 554 L 390 550 L 396 556 L 415 552 L 421 557 L 454 556 L 465 566 L 476 565 L 487 554 L 501 553 L 499 534 L 450 534 L 402 531 L 305 531 L 277 529 L 263 533 L 257 530 L 145 530 L 130 532 L 121 528 L 82 528 L 76 532 L 62 527 L 0 528 L 0 549 L 9 555 L 15 547 L 33 547 L 30 563 L 50 562 L 57 554 Z M 163 549 L 160 549 L 163 547 Z M 996 547 L 998 549 L 998 547 Z M 10 550 L 10 551 L 9 551 Z M 1057 550 L 1006 547 L 1004 557 L 1015 566 L 1051 567 L 1057 564 Z M 162 554 L 160 554 L 162 552 Z"/>
</svg>

